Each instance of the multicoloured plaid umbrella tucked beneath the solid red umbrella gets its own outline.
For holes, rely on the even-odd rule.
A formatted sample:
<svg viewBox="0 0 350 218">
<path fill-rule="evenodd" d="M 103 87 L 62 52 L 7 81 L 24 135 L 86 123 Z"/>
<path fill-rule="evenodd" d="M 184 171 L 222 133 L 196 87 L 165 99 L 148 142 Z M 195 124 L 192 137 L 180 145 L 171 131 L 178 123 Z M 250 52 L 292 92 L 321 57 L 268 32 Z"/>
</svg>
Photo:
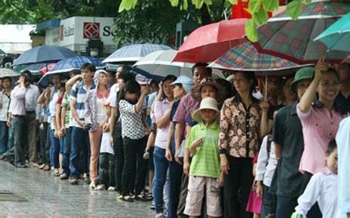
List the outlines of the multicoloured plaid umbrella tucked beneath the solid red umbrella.
<svg viewBox="0 0 350 218">
<path fill-rule="evenodd" d="M 224 56 L 221 56 L 209 66 L 211 68 L 233 71 L 279 71 L 299 67 L 294 62 L 258 53 L 256 48 L 249 42 L 231 48 Z"/>
</svg>

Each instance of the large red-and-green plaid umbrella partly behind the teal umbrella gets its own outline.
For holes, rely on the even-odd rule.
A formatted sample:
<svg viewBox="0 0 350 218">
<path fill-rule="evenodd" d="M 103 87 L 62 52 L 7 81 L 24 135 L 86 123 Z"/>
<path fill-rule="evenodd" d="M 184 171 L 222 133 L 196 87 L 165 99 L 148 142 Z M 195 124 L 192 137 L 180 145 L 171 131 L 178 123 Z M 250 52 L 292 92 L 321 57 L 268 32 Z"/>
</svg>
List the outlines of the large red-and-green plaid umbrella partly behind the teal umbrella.
<svg viewBox="0 0 350 218">
<path fill-rule="evenodd" d="M 332 7 L 327 7 L 329 5 Z M 278 56 L 295 63 L 317 63 L 327 48 L 323 43 L 314 41 L 314 38 L 349 11 L 348 4 L 330 1 L 304 5 L 300 15 L 302 19 L 292 21 L 290 18 L 279 18 L 278 15 L 269 19 L 268 24 L 259 26 L 259 41 L 254 43 L 254 46 L 259 53 Z M 334 14 L 337 17 L 334 17 Z M 315 19 L 318 16 L 331 18 Z M 346 56 L 346 53 L 338 51 L 326 53 L 327 60 L 333 63 L 339 63 Z"/>
</svg>

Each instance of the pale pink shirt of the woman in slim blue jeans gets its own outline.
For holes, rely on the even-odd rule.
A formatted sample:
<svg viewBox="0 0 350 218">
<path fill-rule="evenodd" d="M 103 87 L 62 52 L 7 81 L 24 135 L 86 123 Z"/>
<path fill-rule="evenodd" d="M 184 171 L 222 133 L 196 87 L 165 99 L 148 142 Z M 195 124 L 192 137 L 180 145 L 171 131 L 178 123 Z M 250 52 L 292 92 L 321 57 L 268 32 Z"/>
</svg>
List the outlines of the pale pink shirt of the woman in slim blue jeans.
<svg viewBox="0 0 350 218">
<path fill-rule="evenodd" d="M 166 111 L 168 111 L 169 109 L 170 103 L 167 98 L 165 98 L 164 100 L 156 101 L 156 104 L 154 105 L 154 117 L 156 118 L 156 120 L 162 118 Z M 166 125 L 163 128 L 157 127 L 156 141 L 154 142 L 154 145 L 156 145 L 156 147 L 166 149 L 166 140 L 168 140 L 169 127 L 170 120 L 166 123 Z"/>
</svg>

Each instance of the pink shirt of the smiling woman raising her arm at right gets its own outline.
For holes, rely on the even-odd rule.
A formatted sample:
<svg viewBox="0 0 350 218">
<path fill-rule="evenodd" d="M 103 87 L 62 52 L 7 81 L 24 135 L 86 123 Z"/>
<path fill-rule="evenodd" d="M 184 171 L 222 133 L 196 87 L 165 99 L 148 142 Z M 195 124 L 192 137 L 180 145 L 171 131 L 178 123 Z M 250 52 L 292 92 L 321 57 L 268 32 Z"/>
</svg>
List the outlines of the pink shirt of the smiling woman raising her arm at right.
<svg viewBox="0 0 350 218">
<path fill-rule="evenodd" d="M 339 123 L 343 119 L 336 110 L 329 110 L 321 107 L 311 106 L 310 110 L 302 113 L 299 104 L 296 106 L 296 113 L 303 125 L 304 152 L 301 156 L 299 171 L 316 174 L 326 167 L 324 152 L 328 143 L 336 137 Z M 332 116 L 331 116 L 332 114 Z"/>
</svg>

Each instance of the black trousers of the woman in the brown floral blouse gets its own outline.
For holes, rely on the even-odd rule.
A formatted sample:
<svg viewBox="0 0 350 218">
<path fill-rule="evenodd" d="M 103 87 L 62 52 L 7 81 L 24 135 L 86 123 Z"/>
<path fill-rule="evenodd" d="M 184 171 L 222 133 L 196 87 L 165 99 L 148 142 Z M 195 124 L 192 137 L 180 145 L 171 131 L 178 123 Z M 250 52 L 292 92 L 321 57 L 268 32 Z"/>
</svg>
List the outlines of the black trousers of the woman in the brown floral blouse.
<svg viewBox="0 0 350 218">
<path fill-rule="evenodd" d="M 246 204 L 254 180 L 253 158 L 226 156 L 230 170 L 229 175 L 224 175 L 224 217 L 251 218 L 253 214 L 246 212 Z"/>
</svg>

